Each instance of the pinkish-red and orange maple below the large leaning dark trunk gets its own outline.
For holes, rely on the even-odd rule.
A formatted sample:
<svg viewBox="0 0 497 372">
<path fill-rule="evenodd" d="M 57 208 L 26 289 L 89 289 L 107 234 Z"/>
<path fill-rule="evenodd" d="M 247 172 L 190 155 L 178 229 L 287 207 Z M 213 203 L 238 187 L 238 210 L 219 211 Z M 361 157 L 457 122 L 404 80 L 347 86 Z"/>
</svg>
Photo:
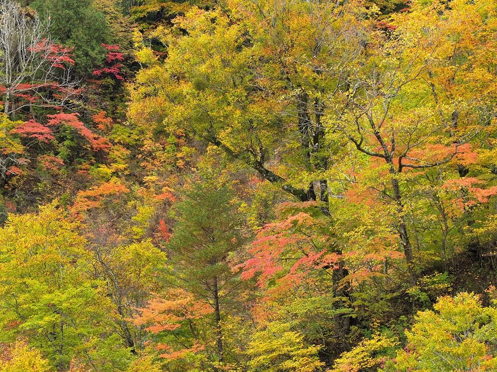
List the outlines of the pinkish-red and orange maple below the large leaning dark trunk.
<svg viewBox="0 0 497 372">
<path fill-rule="evenodd" d="M 283 203 L 276 216 L 257 232 L 240 265 L 242 278 L 257 278 L 264 291 L 253 313 L 260 324 L 292 324 L 308 341 L 338 354 L 348 348 L 354 316 L 351 284 L 372 273 L 349 272 L 357 253 L 342 252 L 333 224 L 315 202 Z"/>
</svg>

